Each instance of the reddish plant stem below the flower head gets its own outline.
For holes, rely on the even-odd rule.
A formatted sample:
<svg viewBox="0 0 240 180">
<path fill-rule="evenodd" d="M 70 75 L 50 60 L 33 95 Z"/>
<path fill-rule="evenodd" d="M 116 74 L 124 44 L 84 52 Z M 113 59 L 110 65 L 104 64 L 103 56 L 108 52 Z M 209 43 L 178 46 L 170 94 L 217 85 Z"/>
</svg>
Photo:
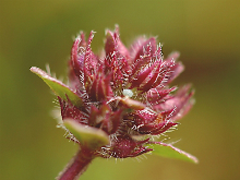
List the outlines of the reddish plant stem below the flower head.
<svg viewBox="0 0 240 180">
<path fill-rule="evenodd" d="M 77 180 L 93 158 L 89 149 L 80 149 L 57 180 Z"/>
</svg>

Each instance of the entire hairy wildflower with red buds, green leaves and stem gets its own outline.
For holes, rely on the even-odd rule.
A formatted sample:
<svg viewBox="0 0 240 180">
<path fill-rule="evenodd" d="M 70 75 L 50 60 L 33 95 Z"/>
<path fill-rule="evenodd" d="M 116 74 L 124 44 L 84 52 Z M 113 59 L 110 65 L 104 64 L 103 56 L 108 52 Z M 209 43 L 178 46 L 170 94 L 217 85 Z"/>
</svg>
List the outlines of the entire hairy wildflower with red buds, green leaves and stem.
<svg viewBox="0 0 240 180">
<path fill-rule="evenodd" d="M 183 71 L 177 62 L 179 53 L 164 59 L 154 37 L 137 38 L 128 49 L 116 27 L 106 31 L 105 52 L 97 56 L 91 48 L 93 37 L 91 32 L 87 40 L 84 33 L 75 38 L 69 85 L 38 68 L 31 69 L 58 96 L 62 125 L 80 145 L 59 179 L 79 177 L 95 157 L 127 158 L 153 152 L 196 163 L 190 154 L 154 141 L 176 127 L 193 105 L 190 85 L 178 91 L 169 87 Z"/>
</svg>

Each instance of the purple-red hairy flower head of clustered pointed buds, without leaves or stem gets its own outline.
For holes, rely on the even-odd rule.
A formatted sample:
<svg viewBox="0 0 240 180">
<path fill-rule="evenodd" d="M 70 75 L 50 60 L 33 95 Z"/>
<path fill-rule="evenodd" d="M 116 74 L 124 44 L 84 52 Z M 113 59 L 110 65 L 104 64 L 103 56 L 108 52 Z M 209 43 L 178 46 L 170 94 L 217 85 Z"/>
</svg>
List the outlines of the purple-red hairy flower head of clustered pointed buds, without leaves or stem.
<svg viewBox="0 0 240 180">
<path fill-rule="evenodd" d="M 91 49 L 93 35 L 92 32 L 85 40 L 81 33 L 72 47 L 70 84 L 83 99 L 83 106 L 75 117 L 68 118 L 105 131 L 110 137 L 110 144 L 101 147 L 108 149 L 103 153 L 108 152 L 106 156 L 116 153 L 116 157 L 120 154 L 116 149 L 123 147 L 121 157 L 136 156 L 135 152 L 147 148 L 132 135 L 160 134 L 176 125 L 176 120 L 191 108 L 190 86 L 176 94 L 172 92 L 177 87 L 169 87 L 183 65 L 177 62 L 178 52 L 164 60 L 161 46 L 157 46 L 154 37 L 141 37 L 128 49 L 119 38 L 118 27 L 115 32 L 106 31 L 105 56 L 97 57 Z M 63 117 L 65 111 L 72 111 L 70 105 L 64 107 Z"/>
</svg>

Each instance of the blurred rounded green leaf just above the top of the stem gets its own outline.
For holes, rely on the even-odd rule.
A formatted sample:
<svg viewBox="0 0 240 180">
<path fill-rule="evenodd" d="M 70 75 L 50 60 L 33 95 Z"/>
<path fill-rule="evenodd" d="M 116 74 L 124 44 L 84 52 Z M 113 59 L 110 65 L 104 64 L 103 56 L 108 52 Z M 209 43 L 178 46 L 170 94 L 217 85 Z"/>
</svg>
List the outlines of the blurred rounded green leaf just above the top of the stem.
<svg viewBox="0 0 240 180">
<path fill-rule="evenodd" d="M 63 123 L 82 145 L 91 149 L 97 149 L 110 143 L 108 134 L 100 129 L 83 125 L 72 119 L 64 119 Z"/>
</svg>

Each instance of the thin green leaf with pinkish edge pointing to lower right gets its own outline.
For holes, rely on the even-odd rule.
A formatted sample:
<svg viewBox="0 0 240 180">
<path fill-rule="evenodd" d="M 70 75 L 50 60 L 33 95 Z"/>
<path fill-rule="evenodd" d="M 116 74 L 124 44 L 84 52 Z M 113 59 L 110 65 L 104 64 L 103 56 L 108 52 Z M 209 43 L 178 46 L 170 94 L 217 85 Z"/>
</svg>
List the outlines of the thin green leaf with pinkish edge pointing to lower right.
<svg viewBox="0 0 240 180">
<path fill-rule="evenodd" d="M 149 144 L 147 145 L 147 147 L 154 149 L 153 154 L 161 156 L 161 157 L 176 158 L 176 159 L 181 159 L 181 160 L 191 161 L 195 164 L 199 163 L 196 157 L 170 144 L 158 142 L 158 144 Z"/>
</svg>

